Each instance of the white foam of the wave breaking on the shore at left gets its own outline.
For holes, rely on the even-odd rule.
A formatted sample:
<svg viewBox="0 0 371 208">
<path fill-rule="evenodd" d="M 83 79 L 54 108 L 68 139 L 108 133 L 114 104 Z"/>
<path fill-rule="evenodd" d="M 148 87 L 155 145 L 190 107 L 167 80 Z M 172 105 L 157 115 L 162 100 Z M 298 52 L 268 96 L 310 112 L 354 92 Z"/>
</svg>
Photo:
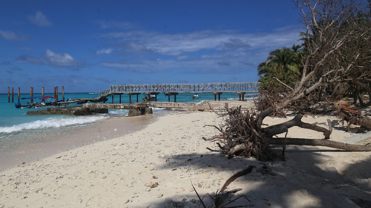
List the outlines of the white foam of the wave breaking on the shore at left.
<svg viewBox="0 0 371 208">
<path fill-rule="evenodd" d="M 43 129 L 43 128 L 60 128 L 72 125 L 89 124 L 95 121 L 105 119 L 104 116 L 79 116 L 63 118 L 47 118 L 45 120 L 36 120 L 29 123 L 13 125 L 11 127 L 0 127 L 0 133 L 12 133 L 22 130 Z"/>
</svg>

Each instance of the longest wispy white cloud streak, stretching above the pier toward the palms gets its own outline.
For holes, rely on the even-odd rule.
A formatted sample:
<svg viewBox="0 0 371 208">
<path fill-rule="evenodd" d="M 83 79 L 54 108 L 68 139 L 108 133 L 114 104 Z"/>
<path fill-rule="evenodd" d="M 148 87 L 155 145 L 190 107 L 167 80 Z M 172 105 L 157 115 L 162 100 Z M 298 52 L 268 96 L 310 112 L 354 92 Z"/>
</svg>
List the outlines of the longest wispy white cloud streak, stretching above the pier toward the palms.
<svg viewBox="0 0 371 208">
<path fill-rule="evenodd" d="M 234 30 L 195 31 L 183 34 L 147 33 L 130 31 L 106 33 L 100 37 L 114 38 L 126 46 L 126 50 L 139 53 L 160 53 L 181 56 L 201 50 L 252 51 L 275 50 L 298 44 L 301 28 L 285 27 L 271 33 L 240 33 Z M 138 50 L 141 49 L 141 50 Z M 142 50 L 146 49 L 146 50 Z"/>
</svg>

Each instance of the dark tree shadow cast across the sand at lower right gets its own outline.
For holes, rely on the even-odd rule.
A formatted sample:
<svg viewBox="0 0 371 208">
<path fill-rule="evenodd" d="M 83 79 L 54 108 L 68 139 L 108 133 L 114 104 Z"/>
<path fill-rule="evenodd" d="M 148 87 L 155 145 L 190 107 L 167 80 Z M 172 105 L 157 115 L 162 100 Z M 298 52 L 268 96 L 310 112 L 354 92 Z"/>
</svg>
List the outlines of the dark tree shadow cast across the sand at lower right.
<svg viewBox="0 0 371 208">
<path fill-rule="evenodd" d="M 254 165 L 257 168 L 263 165 L 272 168 L 277 175 L 261 175 L 256 172 L 256 168 L 250 174 L 239 177 L 232 184 L 235 188 L 243 188 L 235 195 L 231 194 L 232 199 L 245 195 L 255 207 L 357 207 L 348 197 L 367 200 L 371 198 L 371 158 L 361 160 L 354 164 L 345 165 L 340 157 L 335 158 L 331 155 L 324 155 L 324 152 L 338 152 L 333 150 L 308 150 L 306 147 L 295 146 L 286 151 L 286 161 L 261 162 L 254 158 L 233 158 L 228 160 L 226 156 L 215 152 L 206 154 L 179 154 L 171 155 L 177 158 L 177 162 L 163 164 L 158 168 L 174 171 L 185 170 L 184 166 L 189 166 L 192 171 L 203 171 L 201 178 L 190 179 L 206 206 L 213 203 L 212 199 L 205 194 L 205 189 L 200 187 L 199 181 L 202 178 L 216 178 L 218 172 L 229 173 L 232 176 L 238 171 L 243 170 L 247 165 Z M 345 155 L 347 151 L 344 152 Z M 303 159 L 305 158 L 305 159 Z M 190 160 L 191 159 L 191 160 Z M 336 160 L 337 159 L 337 160 Z M 342 169 L 341 169 L 342 168 Z M 341 171 L 339 172 L 338 170 Z M 208 170 L 210 170 L 208 172 Z M 185 172 L 183 175 L 187 175 Z M 190 177 L 192 178 L 192 177 Z M 223 183 L 227 178 L 223 178 Z M 221 188 L 223 183 L 214 186 L 214 192 Z M 232 187 L 232 185 L 231 185 Z M 228 189 L 227 189 L 228 190 Z M 181 207 L 184 205 L 202 207 L 197 201 L 195 192 L 188 195 L 188 198 L 164 199 L 163 202 L 151 204 L 151 208 Z M 196 203 L 191 203 L 191 199 L 196 199 Z M 192 199 L 192 200 L 193 200 Z M 249 205 L 250 203 L 240 198 L 229 206 Z M 228 207 L 228 206 L 226 206 Z"/>
</svg>

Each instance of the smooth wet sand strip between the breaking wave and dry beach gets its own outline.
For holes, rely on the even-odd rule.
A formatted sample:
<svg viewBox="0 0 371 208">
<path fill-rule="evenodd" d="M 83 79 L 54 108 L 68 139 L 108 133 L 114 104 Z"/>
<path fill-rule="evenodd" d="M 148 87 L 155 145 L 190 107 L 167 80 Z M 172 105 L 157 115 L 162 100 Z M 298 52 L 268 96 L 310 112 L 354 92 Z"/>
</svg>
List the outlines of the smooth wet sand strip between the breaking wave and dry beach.
<svg viewBox="0 0 371 208">
<path fill-rule="evenodd" d="M 3 145 L 0 145 L 0 171 L 22 165 L 22 162 L 42 160 L 58 152 L 142 130 L 159 116 L 161 115 L 109 117 L 95 124 L 59 128 L 52 132 L 33 134 L 29 138 L 3 142 Z"/>
</svg>

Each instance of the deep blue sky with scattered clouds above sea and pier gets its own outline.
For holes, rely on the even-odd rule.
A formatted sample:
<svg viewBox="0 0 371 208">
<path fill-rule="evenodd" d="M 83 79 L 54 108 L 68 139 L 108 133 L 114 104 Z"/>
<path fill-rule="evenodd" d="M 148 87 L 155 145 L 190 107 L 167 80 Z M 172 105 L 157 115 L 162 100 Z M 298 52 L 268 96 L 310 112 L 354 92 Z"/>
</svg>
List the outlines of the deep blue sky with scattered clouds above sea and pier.
<svg viewBox="0 0 371 208">
<path fill-rule="evenodd" d="M 299 44 L 299 13 L 290 0 L 1 1 L 0 93 L 255 82 L 270 51 Z"/>
</svg>

